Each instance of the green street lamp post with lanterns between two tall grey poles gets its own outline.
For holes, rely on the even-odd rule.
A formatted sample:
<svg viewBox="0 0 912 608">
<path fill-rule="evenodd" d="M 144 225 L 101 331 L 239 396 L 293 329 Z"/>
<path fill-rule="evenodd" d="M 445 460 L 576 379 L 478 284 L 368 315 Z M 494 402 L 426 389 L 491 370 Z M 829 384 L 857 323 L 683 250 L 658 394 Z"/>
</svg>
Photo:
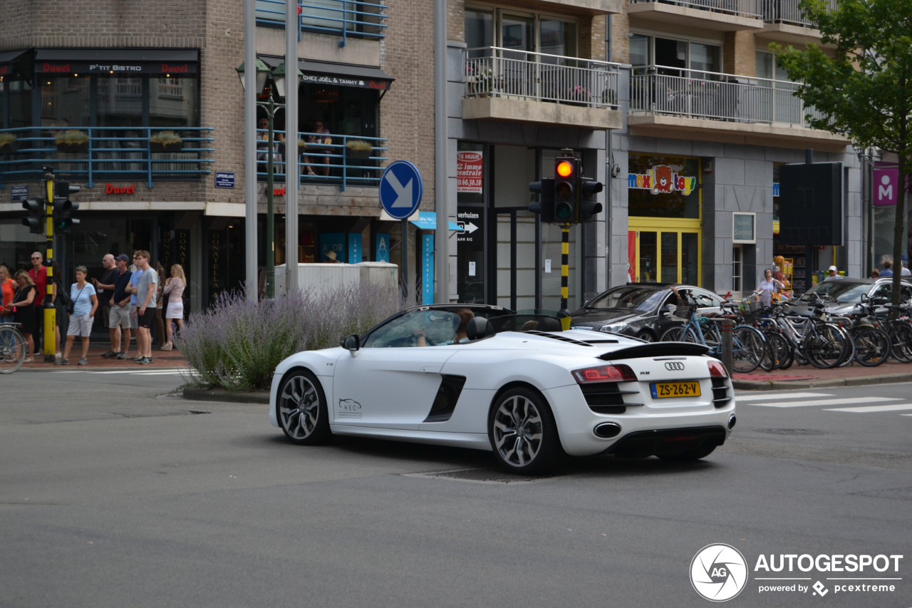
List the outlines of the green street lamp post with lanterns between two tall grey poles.
<svg viewBox="0 0 912 608">
<path fill-rule="evenodd" d="M 241 85 L 244 87 L 244 64 L 236 68 L 238 77 L 241 79 Z M 300 73 L 300 70 L 297 70 Z M 278 93 L 278 97 L 285 97 L 285 64 L 282 63 L 275 69 L 270 70 L 261 59 L 256 60 L 256 85 L 257 91 L 267 90 L 265 101 L 257 101 L 256 105 L 264 108 L 266 112 L 266 121 L 269 122 L 266 138 L 266 298 L 275 298 L 275 176 L 273 169 L 275 166 L 275 112 L 285 108 L 285 104 L 276 103 L 273 96 L 273 86 Z M 268 86 L 267 86 L 268 85 Z M 286 138 L 287 139 L 287 138 Z M 296 140 L 296 138 L 295 138 Z M 295 148 L 297 142 L 294 142 Z M 288 153 L 288 146 L 285 142 L 285 155 Z M 296 150 L 293 153 L 297 152 Z M 255 154 L 254 154 L 255 162 Z M 252 252 L 248 255 L 255 255 Z"/>
</svg>

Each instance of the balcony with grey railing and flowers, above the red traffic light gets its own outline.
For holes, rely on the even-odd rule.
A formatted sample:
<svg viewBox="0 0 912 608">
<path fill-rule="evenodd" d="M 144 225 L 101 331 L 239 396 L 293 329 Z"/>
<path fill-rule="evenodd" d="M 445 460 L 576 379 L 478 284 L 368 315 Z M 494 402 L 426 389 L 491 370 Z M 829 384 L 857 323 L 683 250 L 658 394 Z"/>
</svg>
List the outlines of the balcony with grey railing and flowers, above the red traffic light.
<svg viewBox="0 0 912 608">
<path fill-rule="evenodd" d="M 462 118 L 619 129 L 618 68 L 593 59 L 468 48 Z"/>
</svg>

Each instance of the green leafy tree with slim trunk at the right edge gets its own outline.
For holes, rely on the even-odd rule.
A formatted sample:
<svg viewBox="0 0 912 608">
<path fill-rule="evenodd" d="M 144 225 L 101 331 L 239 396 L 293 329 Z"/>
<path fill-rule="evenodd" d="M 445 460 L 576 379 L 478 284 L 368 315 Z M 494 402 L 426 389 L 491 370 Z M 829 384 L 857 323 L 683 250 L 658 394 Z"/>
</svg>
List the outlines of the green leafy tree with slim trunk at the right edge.
<svg viewBox="0 0 912 608">
<path fill-rule="evenodd" d="M 795 95 L 823 117 L 816 129 L 845 133 L 856 149 L 879 148 L 899 157 L 899 183 L 912 166 L 912 0 L 802 0 L 808 17 L 835 46 L 830 54 L 814 44 L 803 49 L 771 45 L 782 66 L 803 84 Z M 906 246 L 907 189 L 896 205 L 894 259 Z M 899 299 L 899 272 L 893 299 Z"/>
</svg>

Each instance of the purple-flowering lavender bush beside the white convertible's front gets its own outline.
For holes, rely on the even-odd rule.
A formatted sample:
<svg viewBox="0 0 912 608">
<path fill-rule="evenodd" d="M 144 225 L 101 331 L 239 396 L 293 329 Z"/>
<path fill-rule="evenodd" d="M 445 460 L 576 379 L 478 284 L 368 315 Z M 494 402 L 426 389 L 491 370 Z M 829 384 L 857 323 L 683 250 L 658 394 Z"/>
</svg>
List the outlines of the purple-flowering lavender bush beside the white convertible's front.
<svg viewBox="0 0 912 608">
<path fill-rule="evenodd" d="M 250 302 L 243 292 L 220 294 L 209 309 L 192 315 L 180 347 L 192 380 L 228 390 L 268 389 L 275 366 L 297 351 L 337 346 L 364 333 L 414 301 L 398 288 L 349 284 L 316 293 Z"/>
</svg>

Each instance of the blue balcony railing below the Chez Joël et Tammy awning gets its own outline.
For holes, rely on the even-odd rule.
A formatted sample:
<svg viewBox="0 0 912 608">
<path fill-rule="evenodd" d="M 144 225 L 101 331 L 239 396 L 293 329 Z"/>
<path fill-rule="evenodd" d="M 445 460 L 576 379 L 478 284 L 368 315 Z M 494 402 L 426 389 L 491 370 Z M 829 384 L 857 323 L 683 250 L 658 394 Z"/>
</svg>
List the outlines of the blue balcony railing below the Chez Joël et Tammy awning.
<svg viewBox="0 0 912 608">
<path fill-rule="evenodd" d="M 273 177 L 276 183 L 285 183 L 285 131 L 273 131 Z M 260 182 L 268 177 L 269 143 L 265 142 L 266 131 L 256 133 L 256 176 Z M 324 138 L 322 142 L 308 142 Z M 326 143 L 329 138 L 330 143 Z M 298 133 L 300 179 L 298 183 L 326 183 L 338 185 L 345 191 L 348 185 L 376 186 L 387 160 L 385 137 L 363 137 L 361 135 L 337 135 L 336 133 Z M 368 148 L 369 146 L 369 148 Z"/>
</svg>

